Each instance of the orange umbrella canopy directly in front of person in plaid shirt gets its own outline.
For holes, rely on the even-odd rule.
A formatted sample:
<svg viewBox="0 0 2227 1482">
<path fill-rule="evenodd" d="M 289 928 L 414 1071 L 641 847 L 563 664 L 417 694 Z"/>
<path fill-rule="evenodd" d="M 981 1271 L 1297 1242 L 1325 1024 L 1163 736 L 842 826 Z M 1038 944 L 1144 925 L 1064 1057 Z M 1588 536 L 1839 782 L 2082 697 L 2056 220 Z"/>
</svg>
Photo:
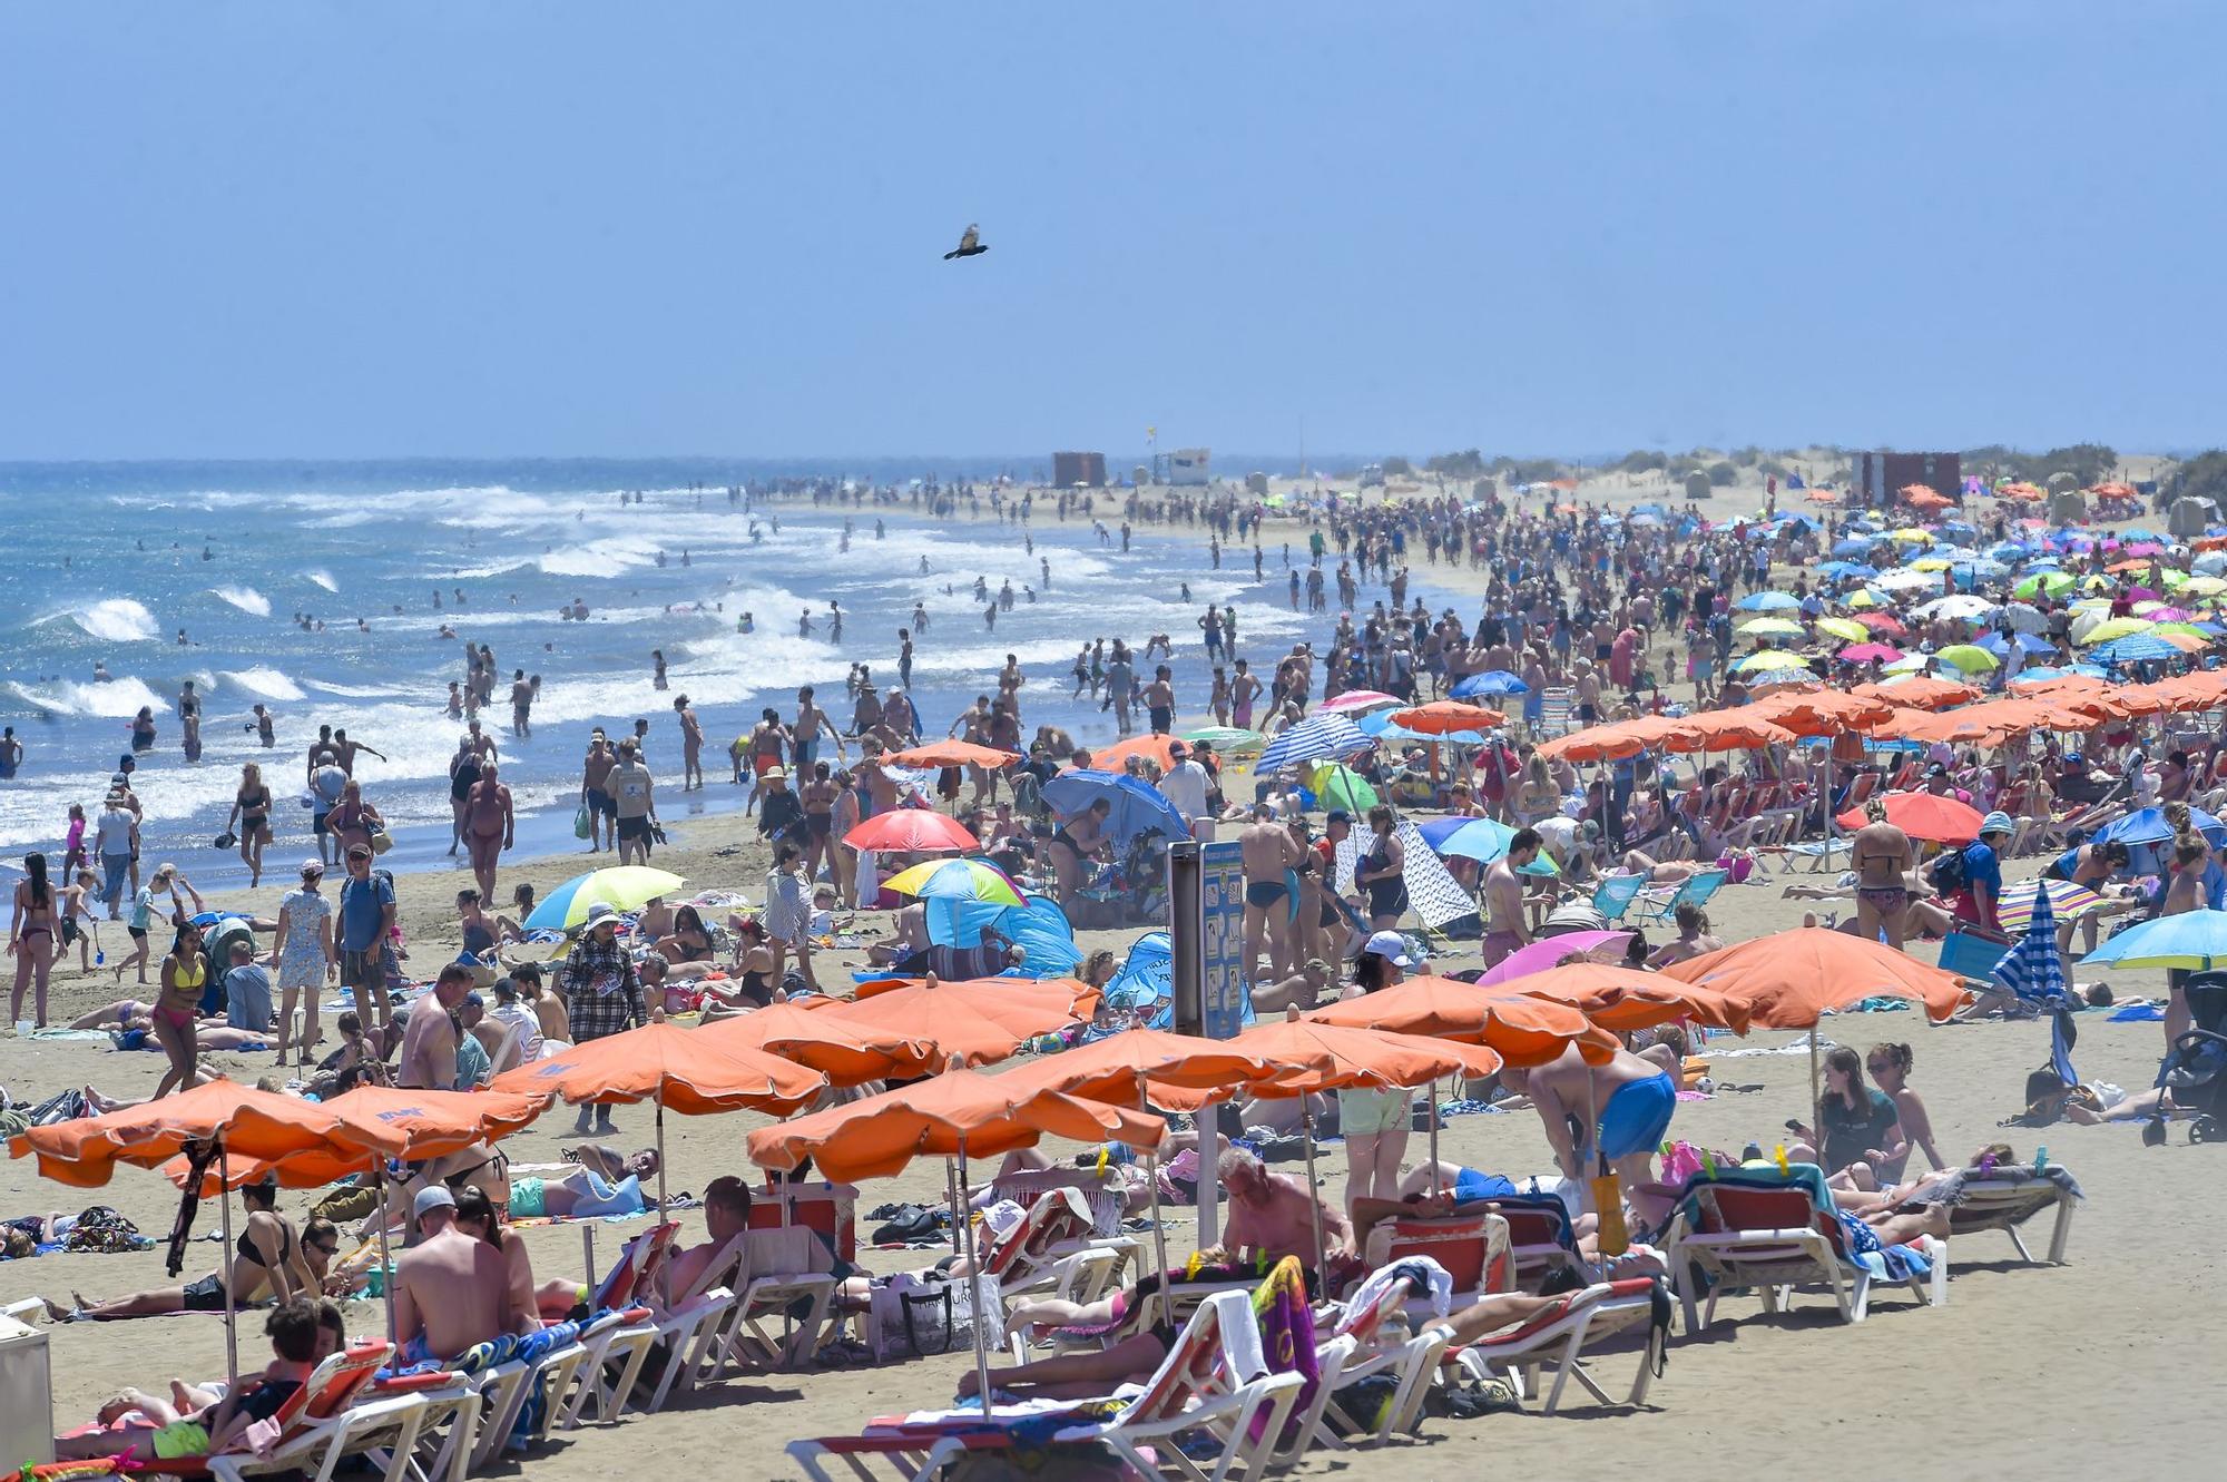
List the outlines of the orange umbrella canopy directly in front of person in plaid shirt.
<svg viewBox="0 0 2227 1482">
<path fill-rule="evenodd" d="M 690 1117 L 791 1110 L 824 1088 L 826 1077 L 817 1070 L 677 1024 L 588 1039 L 494 1077 L 494 1090 L 557 1095 L 572 1104 L 657 1101 Z"/>
</svg>

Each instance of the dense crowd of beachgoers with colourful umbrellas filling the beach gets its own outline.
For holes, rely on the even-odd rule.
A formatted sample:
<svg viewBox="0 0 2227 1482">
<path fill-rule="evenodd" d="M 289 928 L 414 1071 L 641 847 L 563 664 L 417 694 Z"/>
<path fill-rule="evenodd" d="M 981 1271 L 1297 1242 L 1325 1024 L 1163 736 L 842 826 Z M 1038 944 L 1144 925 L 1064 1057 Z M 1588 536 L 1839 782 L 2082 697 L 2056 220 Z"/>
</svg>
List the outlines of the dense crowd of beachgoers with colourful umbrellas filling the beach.
<svg viewBox="0 0 2227 1482">
<path fill-rule="evenodd" d="M 140 879 L 131 772 L 154 745 L 145 717 L 147 748 L 136 728 L 134 754 L 100 808 L 73 810 L 60 861 L 24 861 L 9 932 L 11 1019 L 47 1026 L 49 975 L 71 948 L 80 972 L 91 970 L 85 943 L 105 919 L 131 941 L 116 981 L 136 970 L 151 997 L 116 999 L 73 1028 L 154 1041 L 167 1057 L 156 1097 L 205 1084 L 207 1050 L 243 1046 L 276 1053 L 269 1086 L 318 1099 L 356 1086 L 519 1086 L 521 1070 L 641 1026 L 708 1026 L 842 997 L 833 952 L 895 977 L 1073 979 L 1082 1006 L 1073 1021 L 1031 1037 L 1038 1050 L 1065 1050 L 1169 1021 L 1169 995 L 1118 992 L 1131 964 L 1111 950 L 1076 948 L 1069 961 L 1040 964 L 1040 948 L 1004 917 L 953 937 L 938 923 L 935 892 L 891 881 L 980 866 L 969 877 L 980 895 L 969 899 L 1002 901 L 1002 886 L 1016 910 L 1042 903 L 1073 943 L 1076 930 L 1165 926 L 1167 846 L 1223 837 L 1240 857 L 1247 1017 L 1263 1024 L 1392 992 L 1425 964 L 1463 961 L 1474 979 L 1517 957 L 1534 970 L 1568 957 L 1699 986 L 1724 950 L 1708 919 L 1708 899 L 1724 888 L 1811 901 L 1806 926 L 1866 950 L 1913 952 L 1955 937 L 2002 957 L 2018 943 L 2004 866 L 2047 854 L 2033 890 L 2053 881 L 2080 892 L 2053 937 L 2067 988 L 2076 941 L 2093 952 L 2107 923 L 2227 908 L 2216 859 L 2227 830 L 2211 817 L 2227 801 L 2227 728 L 2216 721 L 2227 676 L 2209 668 L 2227 636 L 2209 612 L 2227 594 L 2218 572 L 2227 559 L 2211 556 L 2227 556 L 2216 550 L 2227 543 L 2051 530 L 1991 490 L 1966 496 L 1955 510 L 1964 518 L 1940 518 L 1942 507 L 1911 492 L 1886 510 L 1804 494 L 1817 496 L 1804 498 L 1808 512 L 1782 512 L 1773 483 L 1762 510 L 1726 518 L 1697 503 L 1610 514 L 1557 485 L 1327 496 L 1301 514 L 1227 490 L 733 490 L 730 501 L 757 501 L 768 521 L 788 498 L 848 503 L 857 518 L 877 505 L 987 514 L 1018 532 L 1051 505 L 1060 521 L 1089 521 L 1107 547 L 1127 545 L 1138 525 L 1196 530 L 1214 570 L 1225 559 L 1238 572 L 1249 565 L 1258 583 L 1283 587 L 1292 610 L 1327 621 L 1334 601 L 1336 619 L 1321 650 L 1298 641 L 1245 652 L 1236 610 L 1200 607 L 1185 587 L 1180 650 L 1167 632 L 1093 639 L 1062 672 L 1029 672 L 1007 654 L 946 734 L 926 737 L 909 701 L 920 614 L 897 634 L 895 685 L 853 663 L 842 699 L 828 696 L 848 717 L 831 714 L 806 685 L 735 737 L 726 786 L 746 790 L 766 850 L 762 877 L 688 899 L 675 890 L 599 899 L 557 928 L 537 921 L 532 890 L 501 895 L 517 808 L 501 781 L 501 739 L 481 721 L 501 670 L 490 648 L 472 645 L 468 672 L 448 685 L 461 721 L 450 852 L 463 854 L 472 883 L 457 892 L 454 939 L 421 943 L 432 952 L 414 957 L 396 897 L 432 886 L 379 866 L 385 821 L 356 777 L 363 757 L 379 759 L 372 745 L 334 728 L 305 745 L 316 857 L 298 863 L 276 915 L 225 912 L 209 910 L 169 861 Z M 1419 572 L 1450 565 L 1481 574 L 1468 621 L 1456 607 L 1432 612 L 1410 590 Z M 1040 581 L 1049 587 L 1051 576 L 1047 561 Z M 1033 587 L 1016 599 L 987 581 L 975 594 L 989 628 L 1000 610 L 1033 601 Z M 811 621 L 806 612 L 799 630 Z M 661 654 L 655 665 L 664 688 Z M 528 732 L 537 690 L 539 676 L 514 670 L 512 734 Z M 1031 730 L 1024 696 L 1044 690 L 1102 699 L 1114 741 L 1051 723 Z M 604 728 L 586 734 L 577 808 L 590 866 L 606 854 L 621 868 L 655 866 L 666 846 L 659 797 L 706 788 L 704 721 L 686 694 L 670 708 L 677 741 L 659 750 L 675 765 L 661 777 L 648 761 L 646 719 L 617 741 Z M 178 721 L 187 734 L 198 725 L 192 685 Z M 20 743 L 0 745 L 13 748 L 4 754 L 13 772 Z M 1136 794 L 1149 797 L 1131 806 Z M 880 832 L 869 841 L 877 821 L 938 806 L 955 823 L 951 843 L 882 843 Z M 254 881 L 274 843 L 272 817 L 274 781 L 247 763 L 225 848 Z M 332 892 L 327 870 L 343 877 Z M 1635 901 L 1655 906 L 1659 939 L 1623 921 Z M 2031 910 L 2033 892 L 2024 901 Z M 886 921 L 875 941 L 864 939 L 869 921 Z M 1552 943 L 1570 935 L 1590 946 L 1557 955 Z M 428 959 L 430 981 L 414 966 Z M 1966 977 L 1980 977 L 1980 990 L 1960 1019 L 2035 1012 L 2015 988 Z M 334 1019 L 341 1044 L 325 1053 L 321 1008 L 332 1008 L 334 990 L 345 1004 Z M 2162 1019 L 2171 1048 L 2194 1024 L 2185 975 L 2169 984 Z M 1572 1259 L 1603 1282 L 1668 1275 L 1661 1248 L 1690 1215 L 1697 1159 L 1710 1173 L 1750 1166 L 1757 1177 L 1811 1166 L 1819 1199 L 1873 1246 L 1920 1257 L 1951 1235 L 1958 1190 L 1975 1170 L 2018 1162 L 2000 1144 L 1969 1159 L 1944 1148 L 1911 1084 L 1917 1053 L 1904 1039 L 1826 1053 L 1815 1104 L 1784 1135 L 1759 1130 L 1739 1150 L 1686 1148 L 1675 1137 L 1679 1093 L 1706 1057 L 1704 1037 L 1721 1028 L 1688 1015 L 1606 1048 L 1570 1039 L 1543 1064 L 1465 1086 L 1472 1101 L 1537 1113 L 1561 1175 L 1550 1197 L 1566 1202 Z M 2007 1097 L 2035 1119 L 2176 1110 L 2167 1093 L 2105 1095 L 2062 1079 L 2015 1093 Z M 85 1088 L 76 1110 L 129 1106 Z M 1436 1115 L 1425 1108 L 1425 1124 Z M 1176 1119 L 1162 1153 L 1187 1148 L 1194 1190 L 1218 1177 L 1232 1255 L 1296 1259 L 1323 1304 L 1385 1264 L 1385 1233 L 1399 1219 L 1521 1197 L 1503 1170 L 1412 1159 L 1410 1086 L 1263 1093 L 1243 1099 L 1236 1122 L 1243 1146 L 1218 1139 L 1211 1122 Z M 608 1106 L 583 1101 L 572 1130 L 608 1139 L 617 1126 Z M 1345 1146 L 1343 1199 L 1258 1157 L 1294 1135 L 1312 1144 L 1327 1133 Z M 301 1224 L 278 1211 L 272 1184 L 249 1184 L 247 1219 L 218 1271 L 49 1311 L 125 1320 L 274 1302 L 272 1369 L 223 1397 L 192 1386 L 131 1393 L 98 1417 L 105 1429 L 62 1453 L 105 1458 L 125 1446 L 151 1462 L 178 1453 L 163 1446 L 225 1449 L 267 1420 L 287 1386 L 339 1351 L 339 1308 L 323 1297 L 361 1291 L 370 1255 L 339 1253 L 379 1228 L 405 1244 L 390 1277 L 401 1362 L 454 1362 L 501 1335 L 586 1320 L 579 1284 L 537 1282 L 506 1224 L 657 1213 L 646 1188 L 657 1157 L 608 1142 L 583 1142 L 575 1157 L 561 1177 L 521 1177 L 499 1146 L 474 1144 L 383 1193 L 343 1188 L 339 1204 L 323 1199 L 323 1213 Z M 1042 1168 L 1040 1157 L 1016 1155 L 1002 1173 Z M 1612 1170 L 1606 1188 L 1599 1168 Z M 708 1239 L 659 1257 L 668 1291 L 697 1291 L 746 1228 L 750 1197 L 742 1177 L 710 1184 Z M 67 1233 L 49 1228 L 56 1219 L 24 1231 L 29 1246 Z M 871 1311 L 864 1273 L 844 1262 L 837 1275 L 837 1313 Z M 1463 1346 L 1566 1306 L 1566 1291 L 1503 1288 L 1436 1322 Z M 1116 1340 L 1004 1366 L 993 1384 L 1020 1397 L 1076 1397 L 1147 1380 L 1176 1331 L 1138 1324 L 1134 1311 L 1136 1286 L 1016 1308 L 1016 1326 L 1114 1322 Z M 971 1386 L 973 1377 L 962 1397 Z"/>
</svg>

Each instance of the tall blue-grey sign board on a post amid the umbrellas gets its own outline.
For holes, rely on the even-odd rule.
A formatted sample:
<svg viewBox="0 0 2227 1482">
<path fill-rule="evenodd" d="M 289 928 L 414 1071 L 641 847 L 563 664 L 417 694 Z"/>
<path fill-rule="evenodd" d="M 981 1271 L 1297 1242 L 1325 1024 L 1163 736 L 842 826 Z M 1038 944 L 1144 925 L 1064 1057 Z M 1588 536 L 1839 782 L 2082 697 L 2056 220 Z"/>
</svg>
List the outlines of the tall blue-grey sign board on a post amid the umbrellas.
<svg viewBox="0 0 2227 1482">
<path fill-rule="evenodd" d="M 1167 850 L 1167 941 L 1176 1033 L 1234 1039 L 1245 1026 L 1245 854 L 1236 839 Z M 1236 1108 L 1198 1108 L 1198 1248 L 1220 1239 L 1216 1135 Z"/>
</svg>

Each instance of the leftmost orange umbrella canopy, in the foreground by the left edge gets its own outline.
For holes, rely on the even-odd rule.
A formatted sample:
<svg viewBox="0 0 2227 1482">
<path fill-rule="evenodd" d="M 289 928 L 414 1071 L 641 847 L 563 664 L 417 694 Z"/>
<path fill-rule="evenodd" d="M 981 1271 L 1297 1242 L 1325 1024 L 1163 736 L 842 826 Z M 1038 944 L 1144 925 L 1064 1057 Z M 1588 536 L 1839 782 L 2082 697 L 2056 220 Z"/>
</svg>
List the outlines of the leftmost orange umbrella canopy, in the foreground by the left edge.
<svg viewBox="0 0 2227 1482">
<path fill-rule="evenodd" d="M 283 1097 L 238 1081 L 203 1081 L 192 1090 L 122 1106 L 98 1117 L 33 1126 L 9 1139 L 13 1157 L 38 1157 L 38 1173 L 73 1188 L 100 1188 L 116 1164 L 156 1168 L 189 1142 L 218 1133 L 229 1162 L 276 1162 L 323 1153 L 356 1159 L 359 1148 L 334 1137 L 339 1117 L 316 1101 Z M 361 1162 L 352 1164 L 361 1166 Z"/>
</svg>

